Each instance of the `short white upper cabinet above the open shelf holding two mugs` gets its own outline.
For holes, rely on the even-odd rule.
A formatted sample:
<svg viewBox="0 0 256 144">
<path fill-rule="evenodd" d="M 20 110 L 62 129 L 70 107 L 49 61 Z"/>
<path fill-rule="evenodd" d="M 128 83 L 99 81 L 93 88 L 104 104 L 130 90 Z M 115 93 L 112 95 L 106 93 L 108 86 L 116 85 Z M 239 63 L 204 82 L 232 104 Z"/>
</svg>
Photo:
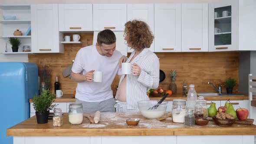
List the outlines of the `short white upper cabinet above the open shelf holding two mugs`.
<svg viewBox="0 0 256 144">
<path fill-rule="evenodd" d="M 59 4 L 59 31 L 92 30 L 92 4 Z"/>
</svg>

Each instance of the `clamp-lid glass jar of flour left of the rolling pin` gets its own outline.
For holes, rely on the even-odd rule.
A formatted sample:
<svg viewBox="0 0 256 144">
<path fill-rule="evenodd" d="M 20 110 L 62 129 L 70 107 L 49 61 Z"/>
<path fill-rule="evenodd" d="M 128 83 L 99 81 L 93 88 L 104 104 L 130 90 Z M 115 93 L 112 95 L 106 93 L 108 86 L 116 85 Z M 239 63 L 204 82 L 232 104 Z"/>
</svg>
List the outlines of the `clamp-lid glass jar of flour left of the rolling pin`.
<svg viewBox="0 0 256 144">
<path fill-rule="evenodd" d="M 82 103 L 69 104 L 69 123 L 82 124 L 83 122 L 83 106 Z"/>
</svg>

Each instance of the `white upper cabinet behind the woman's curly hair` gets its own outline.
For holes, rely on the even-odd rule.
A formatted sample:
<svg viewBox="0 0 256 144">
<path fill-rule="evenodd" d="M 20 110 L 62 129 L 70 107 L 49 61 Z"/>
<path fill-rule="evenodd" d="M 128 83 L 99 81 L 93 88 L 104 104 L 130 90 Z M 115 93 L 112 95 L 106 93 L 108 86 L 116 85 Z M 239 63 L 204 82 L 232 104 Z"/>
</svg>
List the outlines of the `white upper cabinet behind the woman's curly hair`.
<svg viewBox="0 0 256 144">
<path fill-rule="evenodd" d="M 127 4 L 127 21 L 134 19 L 146 22 L 154 35 L 154 3 Z M 154 52 L 154 41 L 149 49 Z M 128 52 L 132 51 L 128 47 Z"/>
</svg>

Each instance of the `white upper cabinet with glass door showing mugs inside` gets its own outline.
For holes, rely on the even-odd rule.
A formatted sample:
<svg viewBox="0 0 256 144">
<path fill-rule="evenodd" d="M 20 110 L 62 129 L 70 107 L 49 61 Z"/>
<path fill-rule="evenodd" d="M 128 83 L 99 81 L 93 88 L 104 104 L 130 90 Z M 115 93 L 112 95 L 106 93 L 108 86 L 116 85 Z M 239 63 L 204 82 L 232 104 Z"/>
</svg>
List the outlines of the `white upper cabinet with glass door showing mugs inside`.
<svg viewBox="0 0 256 144">
<path fill-rule="evenodd" d="M 209 52 L 238 50 L 238 1 L 209 4 Z"/>
</svg>

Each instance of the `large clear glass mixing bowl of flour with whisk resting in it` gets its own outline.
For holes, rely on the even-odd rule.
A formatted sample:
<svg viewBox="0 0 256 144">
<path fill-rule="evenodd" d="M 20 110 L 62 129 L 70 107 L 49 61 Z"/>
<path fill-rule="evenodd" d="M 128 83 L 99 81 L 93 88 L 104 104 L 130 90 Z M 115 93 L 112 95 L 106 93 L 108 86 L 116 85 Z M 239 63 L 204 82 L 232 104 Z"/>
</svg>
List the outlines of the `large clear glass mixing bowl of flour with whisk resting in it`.
<svg viewBox="0 0 256 144">
<path fill-rule="evenodd" d="M 142 100 L 138 101 L 139 110 L 141 115 L 148 119 L 157 119 L 161 118 L 166 112 L 167 101 L 163 101 L 161 104 L 158 104 L 157 108 L 152 108 L 154 105 L 157 105 L 158 100 Z"/>
</svg>

